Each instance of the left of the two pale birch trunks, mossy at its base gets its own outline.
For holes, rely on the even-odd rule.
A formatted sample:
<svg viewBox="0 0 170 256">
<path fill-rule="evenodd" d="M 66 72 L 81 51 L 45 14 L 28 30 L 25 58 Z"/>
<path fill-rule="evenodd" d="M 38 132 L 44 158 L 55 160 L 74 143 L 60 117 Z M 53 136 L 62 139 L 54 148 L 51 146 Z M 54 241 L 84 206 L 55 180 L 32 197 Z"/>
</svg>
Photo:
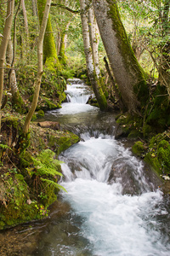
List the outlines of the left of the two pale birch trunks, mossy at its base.
<svg viewBox="0 0 170 256">
<path fill-rule="evenodd" d="M 99 79 L 95 73 L 94 69 L 94 61 L 92 55 L 92 49 L 90 47 L 90 38 L 88 31 L 88 13 L 86 11 L 86 3 L 85 0 L 80 0 L 81 7 L 81 19 L 82 19 L 82 38 L 84 44 L 84 53 L 86 56 L 86 65 L 88 69 L 88 77 L 90 79 L 90 83 L 92 84 L 94 94 L 99 103 L 100 110 L 107 109 L 107 101 L 105 99 L 104 92 L 99 84 Z"/>
</svg>

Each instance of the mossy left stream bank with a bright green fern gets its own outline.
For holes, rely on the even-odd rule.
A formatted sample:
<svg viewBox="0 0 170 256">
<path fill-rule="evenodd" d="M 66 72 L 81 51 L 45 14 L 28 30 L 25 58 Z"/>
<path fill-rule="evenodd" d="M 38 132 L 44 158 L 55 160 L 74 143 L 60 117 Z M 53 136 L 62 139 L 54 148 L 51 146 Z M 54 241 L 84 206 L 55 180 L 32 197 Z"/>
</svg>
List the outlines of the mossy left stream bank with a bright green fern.
<svg viewBox="0 0 170 256">
<path fill-rule="evenodd" d="M 48 216 L 57 199 L 62 176 L 57 156 L 79 141 L 69 131 L 54 131 L 31 123 L 22 136 L 23 116 L 2 119 L 0 144 L 0 229 Z"/>
</svg>

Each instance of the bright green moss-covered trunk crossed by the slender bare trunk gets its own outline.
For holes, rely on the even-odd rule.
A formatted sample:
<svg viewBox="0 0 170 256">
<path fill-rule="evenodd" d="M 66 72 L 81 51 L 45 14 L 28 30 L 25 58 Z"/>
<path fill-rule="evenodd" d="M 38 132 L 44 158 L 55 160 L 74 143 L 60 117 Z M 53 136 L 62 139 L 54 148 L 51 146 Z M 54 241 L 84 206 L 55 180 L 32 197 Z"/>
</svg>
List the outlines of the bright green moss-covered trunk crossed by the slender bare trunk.
<svg viewBox="0 0 170 256">
<path fill-rule="evenodd" d="M 37 0 L 37 10 L 40 25 L 42 24 L 42 16 L 44 13 L 46 0 Z M 51 70 L 61 70 L 57 50 L 54 42 L 54 33 L 51 26 L 50 16 L 48 17 L 48 23 L 43 40 L 43 63 Z"/>
</svg>

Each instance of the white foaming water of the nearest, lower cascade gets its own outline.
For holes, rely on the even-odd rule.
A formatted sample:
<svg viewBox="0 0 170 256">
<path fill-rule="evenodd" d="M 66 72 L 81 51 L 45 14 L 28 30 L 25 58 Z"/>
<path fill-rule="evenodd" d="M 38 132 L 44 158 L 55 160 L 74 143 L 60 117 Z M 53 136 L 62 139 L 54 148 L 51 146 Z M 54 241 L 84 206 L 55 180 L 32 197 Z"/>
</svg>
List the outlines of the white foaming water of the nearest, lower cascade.
<svg viewBox="0 0 170 256">
<path fill-rule="evenodd" d="M 60 156 L 74 214 L 83 219 L 80 233 L 92 244 L 92 255 L 169 255 L 170 246 L 162 239 L 156 217 L 168 212 L 161 207 L 160 190 L 150 191 L 143 164 L 114 138 L 87 138 Z M 106 183 L 112 166 L 131 166 L 140 195 L 122 195 L 122 177 Z M 72 173 L 72 172 L 73 173 Z M 127 177 L 128 178 L 128 177 Z M 127 182 L 127 181 L 126 181 Z M 131 183 L 130 185 L 134 185 Z"/>
</svg>

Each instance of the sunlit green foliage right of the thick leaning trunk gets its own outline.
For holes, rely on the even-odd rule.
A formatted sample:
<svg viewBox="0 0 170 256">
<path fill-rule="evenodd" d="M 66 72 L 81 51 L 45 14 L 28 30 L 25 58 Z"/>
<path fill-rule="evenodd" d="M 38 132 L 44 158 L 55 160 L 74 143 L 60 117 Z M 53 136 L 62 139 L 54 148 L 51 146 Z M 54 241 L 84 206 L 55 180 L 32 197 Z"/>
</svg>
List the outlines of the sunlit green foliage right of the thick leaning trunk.
<svg viewBox="0 0 170 256">
<path fill-rule="evenodd" d="M 139 49 L 140 54 L 144 54 L 141 65 L 147 73 L 149 70 L 152 73 L 154 66 L 160 72 L 160 66 L 168 58 L 169 2 L 124 0 L 118 4 L 133 49 Z"/>
</svg>

